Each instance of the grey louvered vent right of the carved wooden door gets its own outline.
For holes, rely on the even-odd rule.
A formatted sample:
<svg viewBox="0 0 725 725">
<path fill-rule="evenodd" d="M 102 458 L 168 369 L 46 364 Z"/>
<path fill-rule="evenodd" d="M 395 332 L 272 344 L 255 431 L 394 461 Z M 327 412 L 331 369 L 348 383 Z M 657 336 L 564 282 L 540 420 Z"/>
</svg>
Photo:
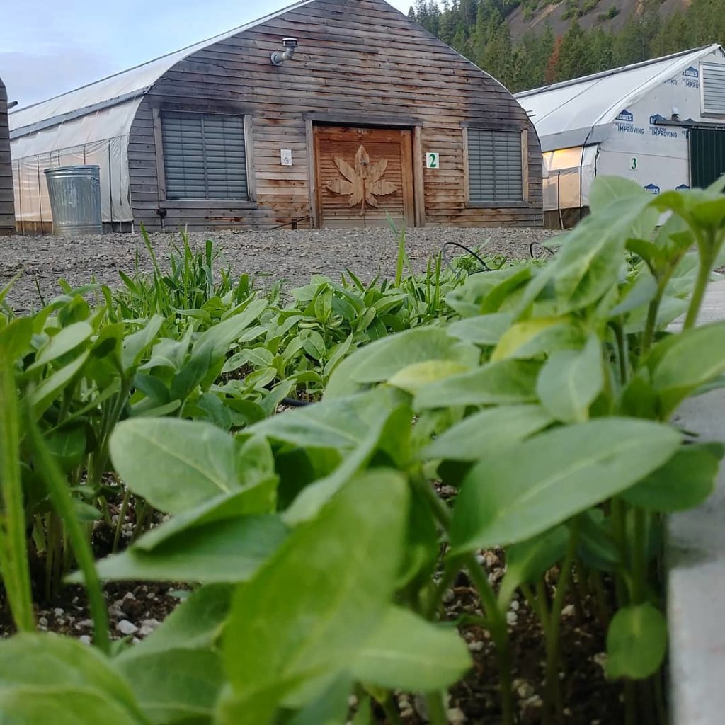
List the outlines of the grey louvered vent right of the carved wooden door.
<svg viewBox="0 0 725 725">
<path fill-rule="evenodd" d="M 468 129 L 471 202 L 521 202 L 521 132 Z"/>
</svg>

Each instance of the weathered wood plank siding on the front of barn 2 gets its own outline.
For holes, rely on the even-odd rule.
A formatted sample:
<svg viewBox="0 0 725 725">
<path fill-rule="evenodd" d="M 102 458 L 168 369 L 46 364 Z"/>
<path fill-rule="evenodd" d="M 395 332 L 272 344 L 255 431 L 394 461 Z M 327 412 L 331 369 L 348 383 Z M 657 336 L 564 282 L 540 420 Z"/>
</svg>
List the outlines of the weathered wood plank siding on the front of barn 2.
<svg viewBox="0 0 725 725">
<path fill-rule="evenodd" d="M 299 47 L 294 59 L 276 67 L 270 53 L 287 36 Z M 165 199 L 157 128 L 165 110 L 245 116 L 254 201 Z M 270 228 L 294 219 L 311 225 L 319 191 L 311 127 L 334 124 L 411 131 L 418 225 L 542 224 L 542 156 L 526 113 L 497 81 L 382 0 L 315 0 L 196 51 L 162 75 L 130 131 L 136 223 L 154 231 L 162 225 Z M 469 127 L 524 132 L 526 201 L 468 203 Z M 291 149 L 294 165 L 280 164 L 281 149 Z M 425 167 L 426 152 L 440 154 L 438 169 Z"/>
</svg>

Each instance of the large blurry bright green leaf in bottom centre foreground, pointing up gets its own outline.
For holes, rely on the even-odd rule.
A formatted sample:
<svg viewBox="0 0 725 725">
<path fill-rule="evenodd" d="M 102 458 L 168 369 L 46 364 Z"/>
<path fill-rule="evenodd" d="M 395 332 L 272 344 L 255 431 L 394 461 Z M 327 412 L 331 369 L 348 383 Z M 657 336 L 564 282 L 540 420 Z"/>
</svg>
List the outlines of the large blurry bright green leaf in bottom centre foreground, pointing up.
<svg viewBox="0 0 725 725">
<path fill-rule="evenodd" d="M 236 693 L 273 688 L 281 699 L 304 678 L 311 689 L 285 697 L 299 707 L 349 666 L 392 597 L 407 497 L 397 473 L 358 476 L 240 585 L 223 635 Z"/>
</svg>

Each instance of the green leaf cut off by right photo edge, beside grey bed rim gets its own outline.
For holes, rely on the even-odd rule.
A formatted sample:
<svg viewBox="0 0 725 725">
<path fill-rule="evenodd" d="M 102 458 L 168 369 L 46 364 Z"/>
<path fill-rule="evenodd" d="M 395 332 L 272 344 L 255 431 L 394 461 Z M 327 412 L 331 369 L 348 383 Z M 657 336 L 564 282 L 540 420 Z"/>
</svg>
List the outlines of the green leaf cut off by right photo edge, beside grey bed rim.
<svg viewBox="0 0 725 725">
<path fill-rule="evenodd" d="M 653 348 L 650 369 L 663 415 L 725 370 L 725 322 L 673 335 Z"/>
</svg>

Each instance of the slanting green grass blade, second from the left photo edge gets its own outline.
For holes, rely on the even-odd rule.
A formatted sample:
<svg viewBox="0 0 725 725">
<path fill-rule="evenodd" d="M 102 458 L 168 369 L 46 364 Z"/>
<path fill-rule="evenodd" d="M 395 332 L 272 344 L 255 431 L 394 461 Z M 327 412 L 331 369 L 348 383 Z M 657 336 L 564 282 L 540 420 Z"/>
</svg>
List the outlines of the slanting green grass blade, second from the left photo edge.
<svg viewBox="0 0 725 725">
<path fill-rule="evenodd" d="M 41 473 L 43 482 L 48 488 L 55 510 L 65 523 L 75 559 L 78 561 L 80 570 L 83 571 L 84 584 L 88 594 L 88 607 L 94 621 L 94 643 L 99 650 L 108 654 L 111 645 L 108 632 L 108 613 L 91 546 L 88 544 L 86 535 L 83 533 L 83 527 L 75 515 L 67 482 L 63 479 L 57 463 L 53 460 L 48 447 L 43 442 L 41 432 L 37 423 L 33 420 L 30 410 L 28 410 L 27 421 L 28 436 L 33 447 L 36 468 Z"/>
</svg>

